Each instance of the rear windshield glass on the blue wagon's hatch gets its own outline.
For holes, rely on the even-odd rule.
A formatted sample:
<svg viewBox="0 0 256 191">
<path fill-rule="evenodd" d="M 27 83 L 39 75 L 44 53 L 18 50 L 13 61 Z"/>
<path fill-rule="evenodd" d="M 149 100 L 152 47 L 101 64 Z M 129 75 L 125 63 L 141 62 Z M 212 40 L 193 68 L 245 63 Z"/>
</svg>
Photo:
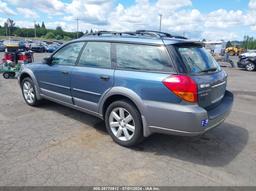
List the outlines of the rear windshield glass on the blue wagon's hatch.
<svg viewBox="0 0 256 191">
<path fill-rule="evenodd" d="M 188 73 L 210 73 L 221 70 L 212 55 L 199 46 L 177 47 Z"/>
</svg>

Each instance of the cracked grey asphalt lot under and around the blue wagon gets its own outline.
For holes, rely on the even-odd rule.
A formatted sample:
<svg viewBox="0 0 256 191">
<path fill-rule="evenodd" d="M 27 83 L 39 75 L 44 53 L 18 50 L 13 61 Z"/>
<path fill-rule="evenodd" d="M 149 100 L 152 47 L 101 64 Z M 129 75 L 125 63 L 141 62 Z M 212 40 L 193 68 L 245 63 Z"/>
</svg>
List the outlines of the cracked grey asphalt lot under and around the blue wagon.
<svg viewBox="0 0 256 191">
<path fill-rule="evenodd" d="M 27 106 L 17 81 L 0 77 L 0 186 L 256 185 L 256 72 L 225 70 L 236 98 L 224 124 L 202 137 L 153 135 L 132 149 L 97 118 Z"/>
</svg>

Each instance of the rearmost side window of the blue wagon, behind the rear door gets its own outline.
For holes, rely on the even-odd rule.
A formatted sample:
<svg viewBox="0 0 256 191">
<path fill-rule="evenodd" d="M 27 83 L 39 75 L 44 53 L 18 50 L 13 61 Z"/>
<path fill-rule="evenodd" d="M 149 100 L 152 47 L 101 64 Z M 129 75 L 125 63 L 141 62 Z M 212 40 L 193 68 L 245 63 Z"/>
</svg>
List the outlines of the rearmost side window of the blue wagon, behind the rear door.
<svg viewBox="0 0 256 191">
<path fill-rule="evenodd" d="M 119 69 L 173 72 L 164 46 L 116 44 Z"/>
</svg>

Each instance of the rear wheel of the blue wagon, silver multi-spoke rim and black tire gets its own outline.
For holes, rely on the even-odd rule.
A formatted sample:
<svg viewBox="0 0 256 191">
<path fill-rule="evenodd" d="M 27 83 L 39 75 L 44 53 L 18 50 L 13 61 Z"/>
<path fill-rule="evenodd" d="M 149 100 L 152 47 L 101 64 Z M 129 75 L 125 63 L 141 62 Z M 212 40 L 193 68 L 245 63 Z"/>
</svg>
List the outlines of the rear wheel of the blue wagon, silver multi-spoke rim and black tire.
<svg viewBox="0 0 256 191">
<path fill-rule="evenodd" d="M 112 139 L 121 146 L 131 147 L 143 140 L 141 115 L 128 100 L 110 104 L 105 113 L 105 124 Z"/>
</svg>

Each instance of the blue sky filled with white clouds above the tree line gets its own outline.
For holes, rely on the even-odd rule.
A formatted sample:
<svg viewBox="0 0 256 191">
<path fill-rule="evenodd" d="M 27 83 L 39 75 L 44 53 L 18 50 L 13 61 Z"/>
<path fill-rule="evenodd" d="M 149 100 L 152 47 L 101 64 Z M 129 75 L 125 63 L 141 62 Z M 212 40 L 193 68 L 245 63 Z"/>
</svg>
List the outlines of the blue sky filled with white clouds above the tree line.
<svg viewBox="0 0 256 191">
<path fill-rule="evenodd" d="M 45 22 L 66 31 L 162 30 L 193 39 L 242 40 L 256 37 L 256 0 L 0 0 L 0 25 Z"/>
</svg>

